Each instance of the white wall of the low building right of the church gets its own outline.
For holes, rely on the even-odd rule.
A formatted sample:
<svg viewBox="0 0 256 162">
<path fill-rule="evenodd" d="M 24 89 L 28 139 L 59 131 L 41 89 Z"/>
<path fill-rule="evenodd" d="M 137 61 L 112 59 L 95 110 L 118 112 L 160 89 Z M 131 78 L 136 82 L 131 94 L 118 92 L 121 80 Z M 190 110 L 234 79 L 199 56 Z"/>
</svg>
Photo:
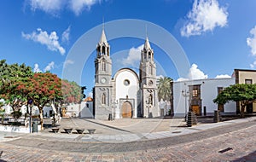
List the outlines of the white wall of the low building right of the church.
<svg viewBox="0 0 256 162">
<path fill-rule="evenodd" d="M 213 113 L 218 105 L 213 103 L 218 95 L 218 87 L 228 87 L 235 84 L 235 78 L 207 78 L 200 80 L 187 80 L 173 83 L 174 115 L 183 116 L 185 111 L 185 97 L 182 90 L 189 91 L 189 85 L 201 84 L 201 113 L 207 107 L 207 113 Z M 189 111 L 189 96 L 187 97 L 187 111 Z M 230 101 L 224 105 L 224 113 L 236 113 L 236 102 Z"/>
</svg>

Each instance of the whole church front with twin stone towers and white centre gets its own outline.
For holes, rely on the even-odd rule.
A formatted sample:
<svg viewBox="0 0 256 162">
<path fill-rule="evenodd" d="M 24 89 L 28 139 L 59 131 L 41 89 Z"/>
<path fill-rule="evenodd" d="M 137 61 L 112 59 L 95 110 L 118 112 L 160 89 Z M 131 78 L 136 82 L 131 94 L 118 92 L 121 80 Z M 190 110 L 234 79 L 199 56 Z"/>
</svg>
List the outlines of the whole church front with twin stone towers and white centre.
<svg viewBox="0 0 256 162">
<path fill-rule="evenodd" d="M 95 87 L 93 89 L 95 119 L 154 118 L 160 116 L 156 86 L 154 50 L 146 38 L 139 75 L 130 68 L 112 73 L 110 45 L 104 30 L 96 46 Z"/>
</svg>

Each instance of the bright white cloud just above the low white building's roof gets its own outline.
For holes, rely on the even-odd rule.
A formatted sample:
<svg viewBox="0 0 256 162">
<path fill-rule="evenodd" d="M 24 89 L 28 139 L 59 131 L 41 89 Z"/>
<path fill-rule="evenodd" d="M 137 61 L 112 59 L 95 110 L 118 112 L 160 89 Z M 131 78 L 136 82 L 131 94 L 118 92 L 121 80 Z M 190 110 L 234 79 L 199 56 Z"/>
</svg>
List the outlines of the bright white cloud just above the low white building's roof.
<svg viewBox="0 0 256 162">
<path fill-rule="evenodd" d="M 189 73 L 187 77 L 188 78 L 178 78 L 177 81 L 208 78 L 208 75 L 202 72 L 196 64 L 192 64 L 192 66 L 189 68 Z"/>
</svg>

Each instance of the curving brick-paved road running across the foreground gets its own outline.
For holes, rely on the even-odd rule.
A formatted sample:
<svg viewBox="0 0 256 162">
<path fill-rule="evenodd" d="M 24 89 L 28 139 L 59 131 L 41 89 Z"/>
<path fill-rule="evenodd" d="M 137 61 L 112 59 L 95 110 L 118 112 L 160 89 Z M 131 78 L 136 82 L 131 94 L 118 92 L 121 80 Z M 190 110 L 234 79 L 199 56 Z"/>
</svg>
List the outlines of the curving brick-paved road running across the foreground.
<svg viewBox="0 0 256 162">
<path fill-rule="evenodd" d="M 181 136 L 122 143 L 83 142 L 73 135 L 65 142 L 42 134 L 20 136 L 1 142 L 0 151 L 6 161 L 255 161 L 254 119 L 206 127 L 192 127 L 195 132 Z"/>
</svg>

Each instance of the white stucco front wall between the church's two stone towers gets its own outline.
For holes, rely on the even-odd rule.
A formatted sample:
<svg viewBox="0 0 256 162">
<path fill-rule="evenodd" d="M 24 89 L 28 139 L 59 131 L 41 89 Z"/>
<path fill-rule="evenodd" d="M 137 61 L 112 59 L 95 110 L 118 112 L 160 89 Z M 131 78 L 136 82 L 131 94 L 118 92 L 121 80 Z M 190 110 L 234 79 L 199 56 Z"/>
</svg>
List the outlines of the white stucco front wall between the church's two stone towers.
<svg viewBox="0 0 256 162">
<path fill-rule="evenodd" d="M 129 85 L 125 85 L 125 79 L 130 81 Z M 139 90 L 139 82 L 137 78 L 137 74 L 130 69 L 121 69 L 115 75 L 115 101 L 119 101 L 120 98 L 125 99 L 126 95 L 128 95 L 129 99 L 134 99 L 134 109 L 133 118 L 137 118 L 137 93 Z M 113 106 L 114 107 L 114 106 Z M 115 118 L 120 118 L 120 108 L 122 105 L 117 104 L 115 108 Z"/>
</svg>

